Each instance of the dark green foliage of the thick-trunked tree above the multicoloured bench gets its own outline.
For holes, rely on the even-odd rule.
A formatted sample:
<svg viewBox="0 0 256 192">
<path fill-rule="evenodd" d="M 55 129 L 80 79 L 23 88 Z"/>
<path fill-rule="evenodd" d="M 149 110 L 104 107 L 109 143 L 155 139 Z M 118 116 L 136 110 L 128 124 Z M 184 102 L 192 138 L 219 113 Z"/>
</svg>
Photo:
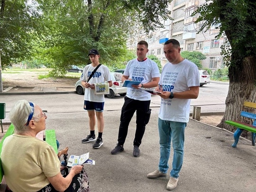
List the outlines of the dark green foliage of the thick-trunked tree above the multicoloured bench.
<svg viewBox="0 0 256 192">
<path fill-rule="evenodd" d="M 192 14 L 198 16 L 199 32 L 212 25 L 219 25 L 219 35 L 227 36 L 230 46 L 221 46 L 226 65 L 239 66 L 247 56 L 256 55 L 256 1 L 255 0 L 206 0 Z M 231 49 L 232 48 L 232 49 Z M 231 60 L 230 60 L 231 58 Z"/>
</svg>

